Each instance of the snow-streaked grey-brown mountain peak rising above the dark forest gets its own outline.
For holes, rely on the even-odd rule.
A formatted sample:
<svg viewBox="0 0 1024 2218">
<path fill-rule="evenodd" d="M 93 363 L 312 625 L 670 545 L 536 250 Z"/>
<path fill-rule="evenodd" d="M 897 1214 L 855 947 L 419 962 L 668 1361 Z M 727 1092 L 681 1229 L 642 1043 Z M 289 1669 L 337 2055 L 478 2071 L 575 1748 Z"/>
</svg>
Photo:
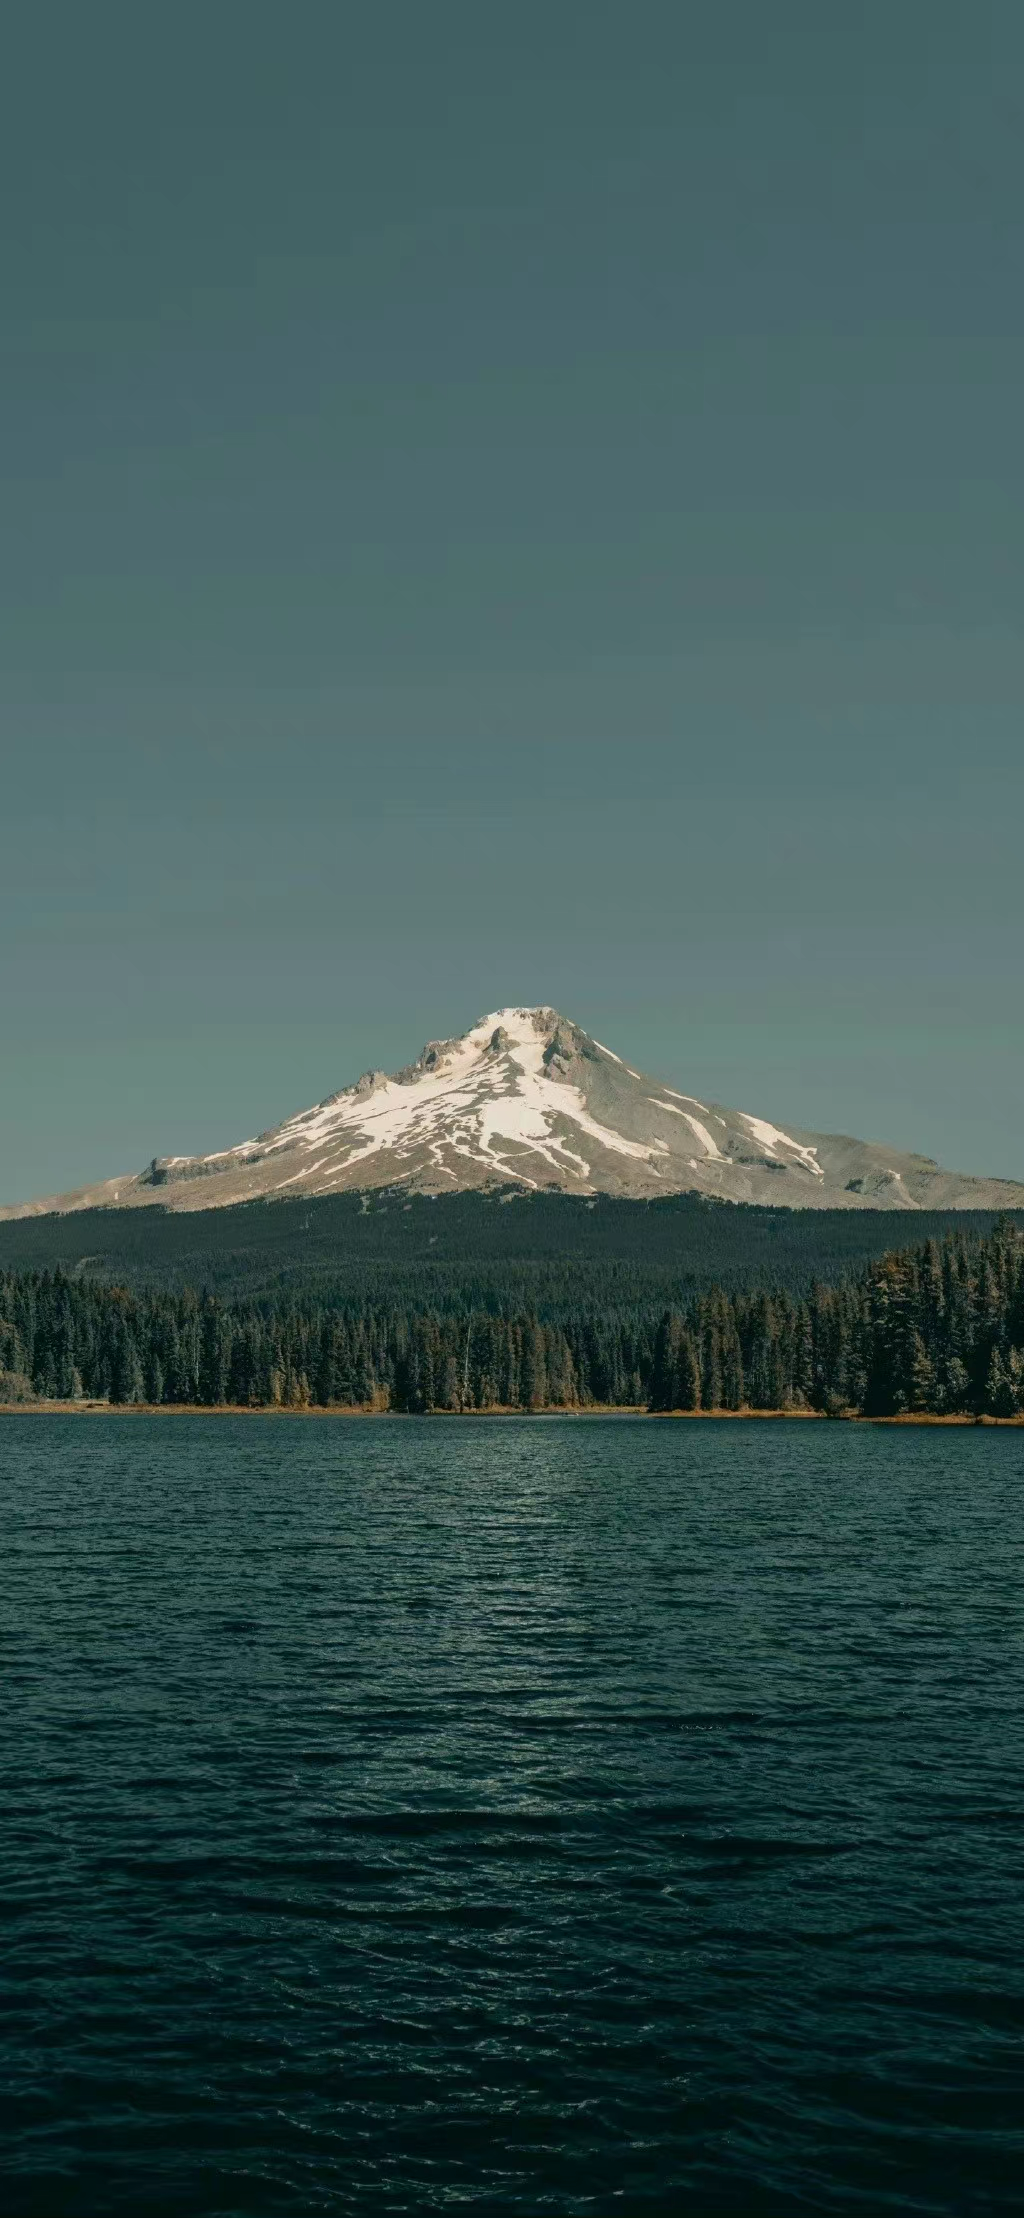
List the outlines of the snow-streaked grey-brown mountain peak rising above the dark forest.
<svg viewBox="0 0 1024 2218">
<path fill-rule="evenodd" d="M 787 1129 L 634 1071 L 556 1009 L 496 1009 L 432 1040 L 390 1078 L 301 1109 L 215 1156 L 162 1156 L 78 1193 L 0 1209 L 233 1202 L 406 1187 L 417 1193 L 556 1187 L 649 1198 L 696 1191 L 791 1209 L 1020 1209 L 1024 1184 L 942 1171 L 931 1156 Z"/>
</svg>

